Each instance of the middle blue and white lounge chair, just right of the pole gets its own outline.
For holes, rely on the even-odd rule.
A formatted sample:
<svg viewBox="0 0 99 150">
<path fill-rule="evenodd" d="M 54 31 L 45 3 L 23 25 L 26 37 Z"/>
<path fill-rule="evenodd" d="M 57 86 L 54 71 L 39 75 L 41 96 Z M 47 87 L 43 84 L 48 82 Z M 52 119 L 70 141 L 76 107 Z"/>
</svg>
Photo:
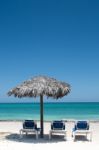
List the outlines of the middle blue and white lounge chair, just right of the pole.
<svg viewBox="0 0 99 150">
<path fill-rule="evenodd" d="M 51 130 L 49 131 L 49 139 L 51 139 L 52 134 L 63 134 L 66 140 L 66 130 L 65 123 L 63 121 L 53 121 L 51 123 Z"/>
</svg>

